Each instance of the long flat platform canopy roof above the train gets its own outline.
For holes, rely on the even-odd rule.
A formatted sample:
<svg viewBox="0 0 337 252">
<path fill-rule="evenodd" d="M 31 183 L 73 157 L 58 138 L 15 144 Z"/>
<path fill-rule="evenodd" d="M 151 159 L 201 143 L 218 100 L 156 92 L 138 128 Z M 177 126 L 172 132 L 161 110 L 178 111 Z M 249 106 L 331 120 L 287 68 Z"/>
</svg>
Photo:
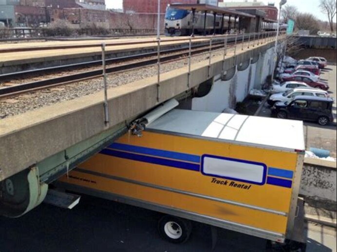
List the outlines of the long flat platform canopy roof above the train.
<svg viewBox="0 0 337 252">
<path fill-rule="evenodd" d="M 254 15 L 250 15 L 247 13 L 243 13 L 236 10 L 231 10 L 224 7 L 216 7 L 209 4 L 180 4 L 180 3 L 172 3 L 169 4 L 169 7 L 180 9 L 180 10 L 191 10 L 191 11 L 205 11 L 205 12 L 213 12 L 216 14 L 224 14 L 232 17 L 246 17 L 246 18 L 255 18 Z"/>
</svg>

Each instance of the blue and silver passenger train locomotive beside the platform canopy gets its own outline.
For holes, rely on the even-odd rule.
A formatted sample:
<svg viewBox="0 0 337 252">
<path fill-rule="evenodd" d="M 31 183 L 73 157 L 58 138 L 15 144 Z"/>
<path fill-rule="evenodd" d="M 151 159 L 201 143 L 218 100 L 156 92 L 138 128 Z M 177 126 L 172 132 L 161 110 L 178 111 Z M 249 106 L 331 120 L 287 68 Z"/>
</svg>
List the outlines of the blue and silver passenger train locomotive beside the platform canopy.
<svg viewBox="0 0 337 252">
<path fill-rule="evenodd" d="M 216 16 L 215 32 L 220 32 L 222 28 L 222 16 Z M 175 9 L 170 6 L 167 7 L 165 13 L 165 36 L 189 36 L 193 29 L 193 13 L 190 10 Z M 224 17 L 224 29 L 228 30 L 228 17 Z M 214 33 L 214 15 L 206 14 L 206 29 L 205 13 L 196 12 L 194 16 L 194 34 L 207 35 Z M 234 21 L 231 22 L 231 27 L 234 28 Z M 206 31 L 205 31 L 206 30 Z"/>
</svg>

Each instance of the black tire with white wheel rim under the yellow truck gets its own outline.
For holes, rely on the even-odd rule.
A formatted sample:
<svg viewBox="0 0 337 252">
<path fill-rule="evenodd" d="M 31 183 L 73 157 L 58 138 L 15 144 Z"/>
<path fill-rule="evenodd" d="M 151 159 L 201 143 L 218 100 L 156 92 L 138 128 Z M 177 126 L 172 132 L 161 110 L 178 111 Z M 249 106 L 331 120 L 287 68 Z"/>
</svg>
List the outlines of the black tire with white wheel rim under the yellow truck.
<svg viewBox="0 0 337 252">
<path fill-rule="evenodd" d="M 166 215 L 158 221 L 159 234 L 171 243 L 185 243 L 191 230 L 192 225 L 187 219 Z"/>
</svg>

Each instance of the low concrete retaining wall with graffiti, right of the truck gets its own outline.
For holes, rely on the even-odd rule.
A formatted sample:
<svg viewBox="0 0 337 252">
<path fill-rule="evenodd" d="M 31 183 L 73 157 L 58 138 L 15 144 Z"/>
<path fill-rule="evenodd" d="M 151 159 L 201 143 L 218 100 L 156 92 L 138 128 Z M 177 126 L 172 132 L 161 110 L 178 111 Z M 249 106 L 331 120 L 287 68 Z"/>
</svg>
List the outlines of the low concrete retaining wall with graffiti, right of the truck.
<svg viewBox="0 0 337 252">
<path fill-rule="evenodd" d="M 300 184 L 300 195 L 337 205 L 336 162 L 305 159 Z"/>
</svg>

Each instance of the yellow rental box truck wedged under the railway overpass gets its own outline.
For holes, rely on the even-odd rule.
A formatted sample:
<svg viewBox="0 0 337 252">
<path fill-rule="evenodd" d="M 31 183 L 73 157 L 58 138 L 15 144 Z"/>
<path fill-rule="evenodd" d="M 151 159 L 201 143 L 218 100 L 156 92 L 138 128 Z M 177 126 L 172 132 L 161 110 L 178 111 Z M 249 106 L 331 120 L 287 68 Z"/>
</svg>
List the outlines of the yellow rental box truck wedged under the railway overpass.
<svg viewBox="0 0 337 252">
<path fill-rule="evenodd" d="M 280 243 L 293 239 L 301 121 L 159 109 L 57 185 L 167 214 L 159 232 L 172 242 L 187 240 L 187 220 Z"/>
</svg>

